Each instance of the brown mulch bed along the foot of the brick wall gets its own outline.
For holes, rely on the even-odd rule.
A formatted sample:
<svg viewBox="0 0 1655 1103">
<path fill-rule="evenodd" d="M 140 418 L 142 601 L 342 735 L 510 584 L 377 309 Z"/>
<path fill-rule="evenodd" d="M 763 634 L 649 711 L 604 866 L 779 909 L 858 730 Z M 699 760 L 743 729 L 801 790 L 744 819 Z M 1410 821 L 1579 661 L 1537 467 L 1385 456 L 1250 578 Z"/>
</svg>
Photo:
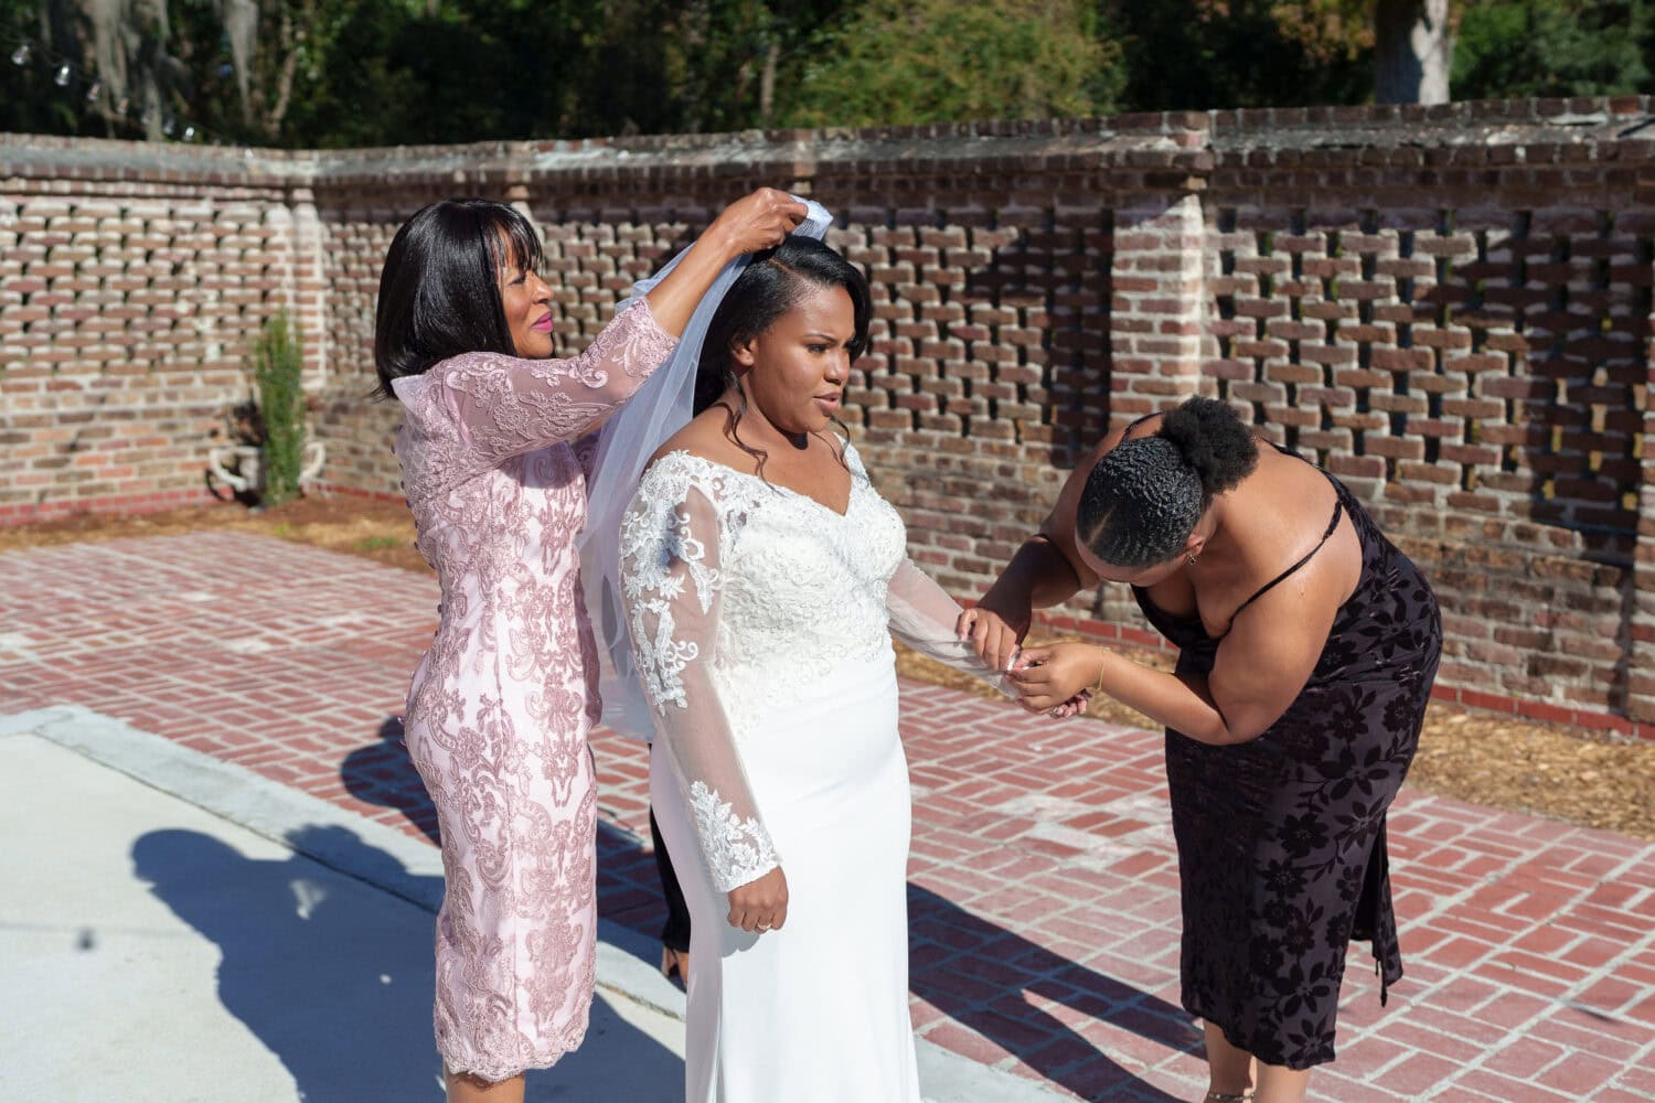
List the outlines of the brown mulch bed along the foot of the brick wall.
<svg viewBox="0 0 1655 1103">
<path fill-rule="evenodd" d="M 401 503 L 349 496 L 309 496 L 275 509 L 204 504 L 151 514 L 71 514 L 0 529 L 0 552 L 121 536 L 167 536 L 199 529 L 260 532 L 394 567 L 429 571 L 414 549 L 414 523 Z M 1160 655 L 1135 655 L 1165 665 Z M 897 668 L 909 678 L 993 696 L 976 680 L 899 648 Z M 1094 701 L 1089 716 L 1154 728 L 1144 716 Z M 1600 733 L 1541 724 L 1433 703 L 1420 751 L 1408 772 L 1412 789 L 1471 804 L 1547 815 L 1655 840 L 1655 742 L 1630 742 Z"/>
</svg>

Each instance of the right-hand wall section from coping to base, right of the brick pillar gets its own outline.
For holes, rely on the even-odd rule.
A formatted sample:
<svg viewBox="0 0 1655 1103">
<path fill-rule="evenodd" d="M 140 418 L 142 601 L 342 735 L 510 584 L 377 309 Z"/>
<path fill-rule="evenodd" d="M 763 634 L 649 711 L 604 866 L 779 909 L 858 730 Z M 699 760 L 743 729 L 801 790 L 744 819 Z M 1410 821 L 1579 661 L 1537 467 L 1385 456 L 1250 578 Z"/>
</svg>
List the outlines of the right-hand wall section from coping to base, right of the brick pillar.
<svg viewBox="0 0 1655 1103">
<path fill-rule="evenodd" d="M 1622 137 L 1647 111 L 1211 122 L 1208 389 L 1341 475 L 1427 567 L 1445 683 L 1554 706 L 1539 714 L 1655 714 L 1630 676 L 1655 146 Z"/>
</svg>

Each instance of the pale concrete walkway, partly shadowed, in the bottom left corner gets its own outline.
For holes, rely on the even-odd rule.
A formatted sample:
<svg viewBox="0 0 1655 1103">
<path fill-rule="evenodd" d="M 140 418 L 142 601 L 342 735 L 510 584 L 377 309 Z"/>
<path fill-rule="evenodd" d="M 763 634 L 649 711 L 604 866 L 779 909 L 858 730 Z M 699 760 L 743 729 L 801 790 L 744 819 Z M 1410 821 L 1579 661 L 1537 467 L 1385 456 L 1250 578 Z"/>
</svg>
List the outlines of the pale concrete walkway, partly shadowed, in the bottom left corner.
<svg viewBox="0 0 1655 1103">
<path fill-rule="evenodd" d="M 384 837 L 309 820 L 285 794 L 233 774 L 220 792 L 240 790 L 235 802 L 260 807 L 258 822 L 278 810 L 309 822 L 275 842 L 84 756 L 108 752 L 127 769 L 147 759 L 162 779 L 217 772 L 146 739 L 68 711 L 12 721 L 0 736 L 3 875 L 30 886 L 0 901 L 8 1098 L 440 1100 L 432 914 L 374 880 L 430 896 L 440 867 L 420 870 L 430 863 L 414 853 L 410 870 L 381 848 Z M 602 989 L 586 1045 L 538 1077 L 530 1098 L 672 1100 L 682 1052 L 680 1017 Z"/>
</svg>

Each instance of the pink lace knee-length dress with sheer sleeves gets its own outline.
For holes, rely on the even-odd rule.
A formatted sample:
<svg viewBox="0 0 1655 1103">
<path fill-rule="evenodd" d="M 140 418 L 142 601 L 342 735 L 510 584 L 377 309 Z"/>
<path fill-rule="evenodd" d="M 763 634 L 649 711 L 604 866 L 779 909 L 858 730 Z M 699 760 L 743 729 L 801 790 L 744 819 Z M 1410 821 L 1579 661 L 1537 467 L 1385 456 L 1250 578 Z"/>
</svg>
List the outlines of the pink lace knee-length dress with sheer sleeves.
<svg viewBox="0 0 1655 1103">
<path fill-rule="evenodd" d="M 569 361 L 477 352 L 394 382 L 402 488 L 442 584 L 404 728 L 442 825 L 435 1029 L 453 1072 L 505 1080 L 586 1034 L 599 701 L 569 442 L 674 344 L 640 303 Z"/>
</svg>

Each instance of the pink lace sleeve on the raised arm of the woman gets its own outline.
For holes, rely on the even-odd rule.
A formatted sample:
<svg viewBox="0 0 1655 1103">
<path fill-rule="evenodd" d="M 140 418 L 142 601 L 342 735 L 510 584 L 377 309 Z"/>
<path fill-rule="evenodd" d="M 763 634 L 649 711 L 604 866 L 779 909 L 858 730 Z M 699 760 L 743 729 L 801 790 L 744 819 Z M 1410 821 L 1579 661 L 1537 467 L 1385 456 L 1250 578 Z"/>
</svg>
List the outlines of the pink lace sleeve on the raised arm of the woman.
<svg viewBox="0 0 1655 1103">
<path fill-rule="evenodd" d="M 523 361 L 467 352 L 432 372 L 453 410 L 465 453 L 482 466 L 495 466 L 596 428 L 672 356 L 675 344 L 649 303 L 639 299 L 576 357 Z"/>
</svg>

